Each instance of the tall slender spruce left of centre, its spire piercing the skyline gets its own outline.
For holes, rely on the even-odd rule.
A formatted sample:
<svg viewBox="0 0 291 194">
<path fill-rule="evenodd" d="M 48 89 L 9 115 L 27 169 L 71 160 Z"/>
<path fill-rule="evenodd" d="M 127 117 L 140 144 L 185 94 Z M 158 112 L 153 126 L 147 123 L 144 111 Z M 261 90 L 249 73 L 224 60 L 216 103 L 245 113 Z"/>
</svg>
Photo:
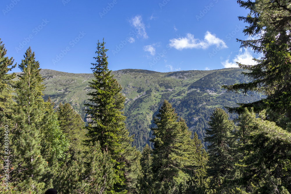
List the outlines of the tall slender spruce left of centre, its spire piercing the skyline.
<svg viewBox="0 0 291 194">
<path fill-rule="evenodd" d="M 108 70 L 108 62 L 106 51 L 103 43 L 98 41 L 97 43 L 97 56 L 94 57 L 96 63 L 92 63 L 94 67 L 93 74 L 95 80 L 92 80 L 90 87 L 93 89 L 93 92 L 88 95 L 91 96 L 91 99 L 88 99 L 92 104 L 85 104 L 89 107 L 86 110 L 90 120 L 87 128 L 88 130 L 88 140 L 87 145 L 91 143 L 93 145 L 100 144 L 100 149 L 102 154 L 109 154 L 111 158 L 111 163 L 113 163 L 113 172 L 114 174 L 104 175 L 105 180 L 113 180 L 111 187 L 106 187 L 106 192 L 119 192 L 125 193 L 126 190 L 123 189 L 124 185 L 124 172 L 121 170 L 124 165 L 123 163 L 118 162 L 120 158 L 120 153 L 124 150 L 121 148 L 121 136 L 122 131 L 120 129 L 124 127 L 125 116 L 122 115 L 119 107 L 116 106 L 115 94 L 118 90 L 117 87 L 114 87 L 116 80 L 111 75 L 111 71 Z"/>
</svg>

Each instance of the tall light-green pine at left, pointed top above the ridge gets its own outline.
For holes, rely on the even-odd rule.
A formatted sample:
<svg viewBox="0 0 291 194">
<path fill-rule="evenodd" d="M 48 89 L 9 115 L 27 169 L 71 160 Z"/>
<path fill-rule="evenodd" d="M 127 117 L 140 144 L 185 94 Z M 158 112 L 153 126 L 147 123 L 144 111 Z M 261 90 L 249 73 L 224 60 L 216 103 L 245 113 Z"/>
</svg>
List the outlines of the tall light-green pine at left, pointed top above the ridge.
<svg viewBox="0 0 291 194">
<path fill-rule="evenodd" d="M 22 74 L 16 85 L 17 105 L 14 117 L 17 128 L 13 137 L 14 183 L 19 190 L 42 192 L 45 186 L 43 177 L 48 167 L 41 154 L 43 134 L 41 122 L 45 113 L 39 63 L 35 60 L 34 52 L 27 49 L 24 60 L 19 65 Z"/>
</svg>

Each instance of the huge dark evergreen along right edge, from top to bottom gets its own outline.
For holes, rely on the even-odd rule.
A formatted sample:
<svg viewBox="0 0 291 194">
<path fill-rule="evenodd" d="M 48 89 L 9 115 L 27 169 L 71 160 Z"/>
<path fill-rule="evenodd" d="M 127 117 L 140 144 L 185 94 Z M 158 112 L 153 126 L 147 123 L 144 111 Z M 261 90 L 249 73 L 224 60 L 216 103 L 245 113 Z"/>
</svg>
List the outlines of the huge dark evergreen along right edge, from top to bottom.
<svg viewBox="0 0 291 194">
<path fill-rule="evenodd" d="M 263 57 L 253 66 L 238 63 L 239 67 L 249 70 L 243 73 L 249 78 L 249 83 L 223 88 L 245 95 L 261 92 L 267 96 L 256 102 L 228 108 L 230 112 L 245 112 L 245 115 L 241 114 L 243 118 L 249 117 L 248 122 L 241 122 L 244 126 L 239 131 L 244 134 L 239 144 L 243 154 L 243 183 L 247 191 L 254 193 L 290 192 L 286 184 L 289 177 L 282 171 L 285 168 L 284 172 L 288 172 L 287 166 L 290 165 L 290 152 L 286 151 L 289 147 L 284 143 L 287 139 L 282 137 L 289 133 L 291 119 L 290 1 L 239 0 L 238 3 L 250 10 L 248 16 L 239 19 L 249 24 L 243 31 L 245 35 L 254 37 L 238 41 L 241 47 L 251 47 Z M 261 118 L 255 119 L 255 114 L 245 108 L 253 108 L 257 114 L 262 111 Z M 274 126 L 275 123 L 277 126 Z M 252 126 L 251 131 L 246 130 L 248 125 Z M 286 188 L 289 190 L 286 191 Z"/>
</svg>

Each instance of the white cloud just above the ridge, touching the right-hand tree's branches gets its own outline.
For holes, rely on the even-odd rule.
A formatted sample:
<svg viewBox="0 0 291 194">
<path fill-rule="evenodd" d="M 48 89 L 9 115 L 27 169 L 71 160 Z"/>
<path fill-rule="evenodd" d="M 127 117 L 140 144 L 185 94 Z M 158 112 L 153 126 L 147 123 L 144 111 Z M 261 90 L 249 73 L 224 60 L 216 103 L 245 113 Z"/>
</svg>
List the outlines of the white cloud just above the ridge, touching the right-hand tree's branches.
<svg viewBox="0 0 291 194">
<path fill-rule="evenodd" d="M 229 61 L 229 59 L 227 59 L 226 61 L 222 61 L 221 64 L 225 68 L 239 67 L 236 62 L 239 62 L 243 65 L 255 65 L 256 62 L 253 60 L 254 57 L 252 56 L 250 51 L 250 49 L 244 49 L 243 53 L 242 49 L 240 49 L 239 54 L 237 54 L 232 61 Z"/>
</svg>

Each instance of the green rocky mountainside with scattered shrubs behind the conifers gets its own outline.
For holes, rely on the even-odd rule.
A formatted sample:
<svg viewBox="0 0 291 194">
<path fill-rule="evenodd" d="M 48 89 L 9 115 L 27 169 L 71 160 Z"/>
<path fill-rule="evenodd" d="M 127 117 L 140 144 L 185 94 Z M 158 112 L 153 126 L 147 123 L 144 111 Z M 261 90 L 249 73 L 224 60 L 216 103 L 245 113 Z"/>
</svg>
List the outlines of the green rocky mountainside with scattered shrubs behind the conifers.
<svg viewBox="0 0 291 194">
<path fill-rule="evenodd" d="M 179 116 L 184 118 L 192 133 L 196 132 L 203 139 L 205 128 L 214 108 L 234 107 L 235 103 L 253 102 L 262 95 L 226 93 L 221 85 L 248 82 L 239 68 L 227 68 L 210 71 L 155 72 L 149 70 L 125 69 L 113 71 L 114 77 L 123 87 L 126 97 L 126 126 L 130 135 L 135 134 L 134 143 L 139 149 L 149 143 L 150 127 L 153 115 L 161 107 L 164 99 L 168 100 Z M 90 87 L 88 81 L 93 74 L 74 74 L 43 69 L 45 78 L 44 99 L 51 98 L 59 103 L 69 103 L 86 121 L 84 109 L 88 103 Z M 223 108 L 224 109 L 224 108 Z M 234 118 L 236 115 L 230 115 Z M 205 144 L 206 145 L 206 144 Z"/>
</svg>

